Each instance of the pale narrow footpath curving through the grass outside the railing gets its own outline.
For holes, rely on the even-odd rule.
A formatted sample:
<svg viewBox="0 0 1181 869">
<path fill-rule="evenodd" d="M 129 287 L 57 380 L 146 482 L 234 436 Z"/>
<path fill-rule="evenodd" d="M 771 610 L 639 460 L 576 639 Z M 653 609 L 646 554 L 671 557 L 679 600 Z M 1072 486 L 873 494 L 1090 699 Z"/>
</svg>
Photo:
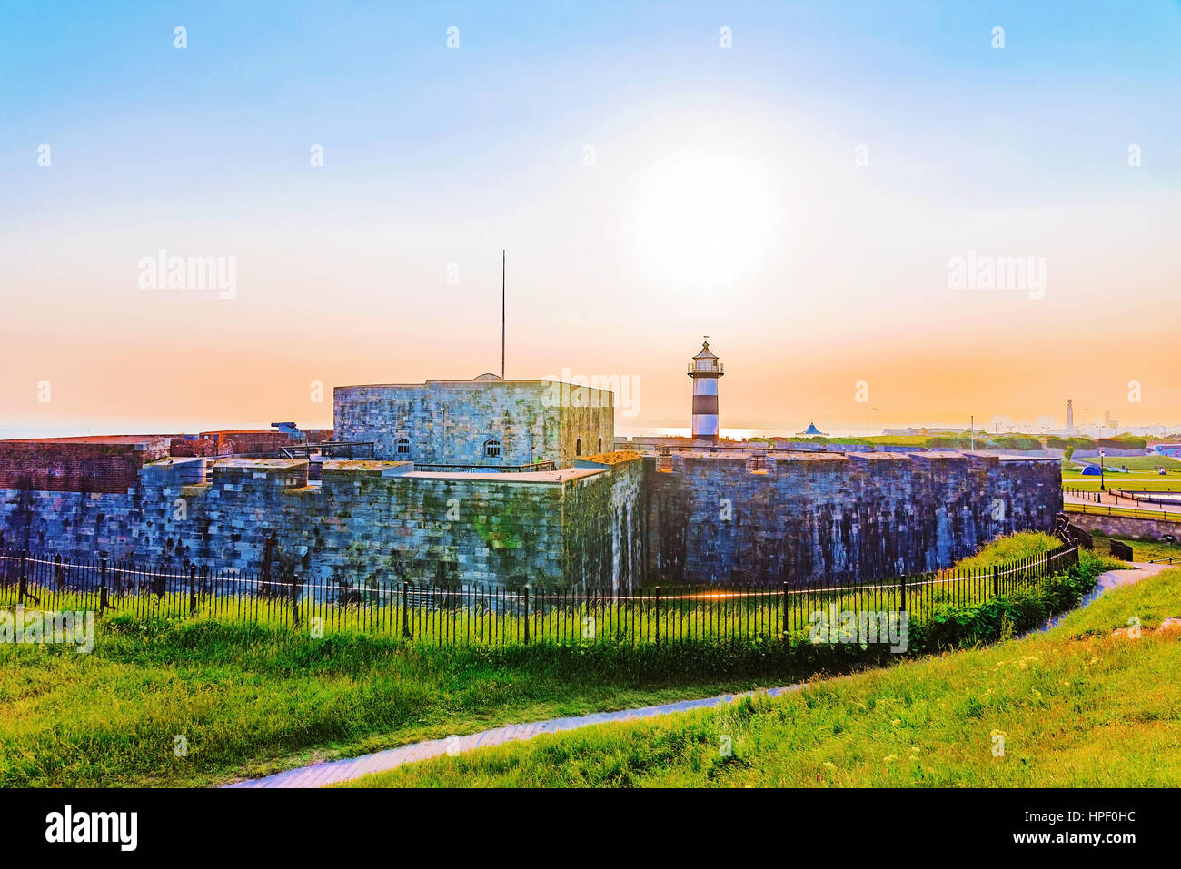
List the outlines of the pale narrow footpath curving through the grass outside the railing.
<svg viewBox="0 0 1181 869">
<path fill-rule="evenodd" d="M 1100 574 L 1098 584 L 1079 602 L 1079 607 L 1085 607 L 1094 602 L 1105 592 L 1120 586 L 1128 586 L 1138 582 L 1148 576 L 1154 576 L 1166 569 L 1168 564 L 1136 564 L 1135 570 L 1109 570 Z M 1075 612 L 1075 610 L 1070 610 Z M 1058 625 L 1069 613 L 1050 619 L 1038 630 L 1049 630 Z M 766 693 L 777 697 L 788 691 L 796 691 L 800 684 L 787 685 L 778 688 L 768 688 Z M 462 754 L 472 749 L 483 749 L 490 745 L 501 745 L 513 740 L 523 741 L 533 739 L 540 733 L 557 733 L 566 730 L 578 730 L 592 724 L 606 724 L 608 721 L 632 721 L 640 718 L 652 718 L 653 716 L 667 716 L 674 712 L 687 712 L 709 706 L 720 706 L 735 700 L 749 697 L 755 692 L 740 694 L 722 694 L 720 697 L 709 697 L 702 700 L 681 700 L 679 703 L 665 703 L 659 706 L 644 706 L 637 710 L 620 710 L 618 712 L 596 712 L 589 716 L 578 716 L 574 718 L 552 718 L 548 721 L 529 721 L 528 724 L 510 724 L 505 727 L 485 730 L 478 733 L 470 733 L 465 737 L 449 737 L 446 739 L 431 739 L 424 743 L 411 743 L 398 749 L 389 749 L 373 754 L 361 754 L 360 757 L 345 758 L 342 760 L 328 760 L 301 766 L 286 772 L 276 772 L 265 778 L 247 779 L 227 788 L 320 788 L 337 782 L 347 782 L 360 778 L 373 772 L 385 772 L 402 764 L 426 760 L 439 754 Z"/>
</svg>

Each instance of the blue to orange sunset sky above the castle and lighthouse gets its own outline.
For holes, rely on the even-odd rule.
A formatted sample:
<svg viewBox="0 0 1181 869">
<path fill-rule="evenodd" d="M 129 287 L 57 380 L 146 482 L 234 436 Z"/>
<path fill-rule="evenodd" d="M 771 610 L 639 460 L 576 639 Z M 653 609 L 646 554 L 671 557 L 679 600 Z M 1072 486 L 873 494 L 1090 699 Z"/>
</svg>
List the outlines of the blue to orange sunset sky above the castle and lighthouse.
<svg viewBox="0 0 1181 869">
<path fill-rule="evenodd" d="M 0 19 L 0 430 L 498 373 L 502 249 L 507 375 L 621 430 L 689 425 L 706 334 L 724 430 L 1181 423 L 1176 0 Z"/>
</svg>

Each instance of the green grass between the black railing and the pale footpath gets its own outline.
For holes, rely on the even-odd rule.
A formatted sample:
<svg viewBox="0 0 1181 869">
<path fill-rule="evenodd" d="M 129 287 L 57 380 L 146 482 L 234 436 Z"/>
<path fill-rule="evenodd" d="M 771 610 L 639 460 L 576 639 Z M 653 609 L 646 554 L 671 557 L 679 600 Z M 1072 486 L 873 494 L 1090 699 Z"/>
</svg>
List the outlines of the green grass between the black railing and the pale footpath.
<svg viewBox="0 0 1181 869">
<path fill-rule="evenodd" d="M 1048 545 L 1022 535 L 992 544 L 983 561 Z M 1098 569 L 1089 560 L 1083 573 Z M 948 607 L 912 625 L 911 648 L 996 639 L 1083 590 L 1085 577 L 1045 599 Z M 870 656 L 880 659 L 879 649 Z M 99 622 L 91 654 L 0 645 L 0 785 L 213 784 L 508 723 L 787 684 L 868 660 L 857 647 L 796 642 L 431 649 L 363 634 L 315 640 L 272 626 L 116 616 Z M 177 737 L 184 757 L 174 751 Z"/>
</svg>

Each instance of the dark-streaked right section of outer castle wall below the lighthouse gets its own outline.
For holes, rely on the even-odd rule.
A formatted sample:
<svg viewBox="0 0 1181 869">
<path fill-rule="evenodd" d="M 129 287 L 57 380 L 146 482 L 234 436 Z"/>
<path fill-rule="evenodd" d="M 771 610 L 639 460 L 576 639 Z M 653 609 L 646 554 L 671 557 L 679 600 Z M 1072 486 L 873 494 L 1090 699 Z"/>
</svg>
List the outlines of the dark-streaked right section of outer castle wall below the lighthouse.
<svg viewBox="0 0 1181 869">
<path fill-rule="evenodd" d="M 1057 462 L 959 453 L 646 457 L 647 582 L 844 581 L 1050 530 Z"/>
</svg>

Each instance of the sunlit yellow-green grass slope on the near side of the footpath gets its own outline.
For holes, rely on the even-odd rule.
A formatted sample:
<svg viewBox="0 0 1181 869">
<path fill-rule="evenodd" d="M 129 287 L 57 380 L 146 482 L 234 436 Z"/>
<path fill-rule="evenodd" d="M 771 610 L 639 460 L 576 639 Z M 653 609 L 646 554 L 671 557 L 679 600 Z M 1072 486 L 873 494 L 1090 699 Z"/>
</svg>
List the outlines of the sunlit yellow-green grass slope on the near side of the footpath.
<svg viewBox="0 0 1181 869">
<path fill-rule="evenodd" d="M 1133 616 L 1141 636 L 1114 636 Z M 1175 788 L 1181 642 L 1150 630 L 1167 616 L 1181 616 L 1181 569 L 1108 593 L 1045 634 L 353 786 Z"/>
</svg>

